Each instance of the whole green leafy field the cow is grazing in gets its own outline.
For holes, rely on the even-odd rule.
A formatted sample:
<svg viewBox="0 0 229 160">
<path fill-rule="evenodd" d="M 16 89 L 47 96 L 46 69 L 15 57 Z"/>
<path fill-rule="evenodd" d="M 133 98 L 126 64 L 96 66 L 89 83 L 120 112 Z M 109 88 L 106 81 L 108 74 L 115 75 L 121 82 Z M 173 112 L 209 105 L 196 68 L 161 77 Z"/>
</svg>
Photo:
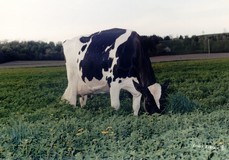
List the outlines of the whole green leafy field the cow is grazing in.
<svg viewBox="0 0 229 160">
<path fill-rule="evenodd" d="M 163 115 L 109 95 L 60 102 L 64 67 L 0 69 L 0 159 L 229 159 L 229 59 L 154 64 L 171 80 Z"/>
</svg>

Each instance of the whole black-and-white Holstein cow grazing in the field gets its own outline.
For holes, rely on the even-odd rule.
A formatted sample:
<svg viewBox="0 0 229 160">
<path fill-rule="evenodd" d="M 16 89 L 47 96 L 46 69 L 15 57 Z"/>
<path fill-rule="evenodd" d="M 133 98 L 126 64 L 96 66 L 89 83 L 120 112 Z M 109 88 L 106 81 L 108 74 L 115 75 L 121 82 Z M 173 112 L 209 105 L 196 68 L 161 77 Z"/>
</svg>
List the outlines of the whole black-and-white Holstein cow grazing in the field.
<svg viewBox="0 0 229 160">
<path fill-rule="evenodd" d="M 156 83 L 151 62 L 136 32 L 104 30 L 67 40 L 63 47 L 68 86 L 62 99 L 76 105 L 80 95 L 80 102 L 85 105 L 85 95 L 109 92 L 111 106 L 118 110 L 120 90 L 124 89 L 133 95 L 134 115 L 138 115 L 142 96 L 149 114 L 161 111 L 160 101 L 167 85 Z"/>
</svg>

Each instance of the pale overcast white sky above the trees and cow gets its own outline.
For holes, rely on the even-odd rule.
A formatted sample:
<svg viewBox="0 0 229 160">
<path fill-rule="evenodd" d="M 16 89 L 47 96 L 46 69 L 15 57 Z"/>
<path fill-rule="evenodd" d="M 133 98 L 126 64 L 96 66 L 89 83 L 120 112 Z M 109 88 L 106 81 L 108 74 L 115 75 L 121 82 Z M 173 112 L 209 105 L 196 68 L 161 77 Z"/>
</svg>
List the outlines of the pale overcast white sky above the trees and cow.
<svg viewBox="0 0 229 160">
<path fill-rule="evenodd" d="M 110 28 L 140 35 L 229 32 L 229 0 L 0 0 L 0 41 L 62 42 Z"/>
</svg>

